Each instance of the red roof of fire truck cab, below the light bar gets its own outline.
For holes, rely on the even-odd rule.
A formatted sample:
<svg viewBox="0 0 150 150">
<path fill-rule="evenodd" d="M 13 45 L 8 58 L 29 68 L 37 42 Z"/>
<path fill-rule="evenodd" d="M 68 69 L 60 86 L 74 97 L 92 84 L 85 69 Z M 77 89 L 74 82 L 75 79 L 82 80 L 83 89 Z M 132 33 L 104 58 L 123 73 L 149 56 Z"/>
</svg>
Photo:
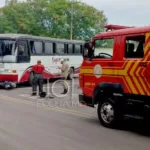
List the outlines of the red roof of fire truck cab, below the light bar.
<svg viewBox="0 0 150 150">
<path fill-rule="evenodd" d="M 108 32 L 103 32 L 95 35 L 94 39 L 103 38 L 103 37 L 113 37 L 119 35 L 128 35 L 128 34 L 140 34 L 146 32 L 150 32 L 150 26 L 122 28 L 122 29 L 112 30 Z"/>
</svg>

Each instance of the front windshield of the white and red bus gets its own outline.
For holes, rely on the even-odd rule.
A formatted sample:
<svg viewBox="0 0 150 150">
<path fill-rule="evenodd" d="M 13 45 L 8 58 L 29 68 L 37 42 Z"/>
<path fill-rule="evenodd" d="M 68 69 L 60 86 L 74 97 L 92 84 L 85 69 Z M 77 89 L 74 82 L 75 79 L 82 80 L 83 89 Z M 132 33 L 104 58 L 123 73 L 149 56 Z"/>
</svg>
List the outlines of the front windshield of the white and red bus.
<svg viewBox="0 0 150 150">
<path fill-rule="evenodd" d="M 0 39 L 0 56 L 12 55 L 14 40 Z"/>
</svg>

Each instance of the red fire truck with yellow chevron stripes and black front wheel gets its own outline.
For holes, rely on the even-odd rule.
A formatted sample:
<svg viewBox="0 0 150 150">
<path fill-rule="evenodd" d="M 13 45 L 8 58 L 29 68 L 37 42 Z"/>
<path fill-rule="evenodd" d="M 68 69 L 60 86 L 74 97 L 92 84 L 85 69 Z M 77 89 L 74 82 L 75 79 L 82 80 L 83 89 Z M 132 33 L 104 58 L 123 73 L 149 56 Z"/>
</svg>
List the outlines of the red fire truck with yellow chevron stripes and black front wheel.
<svg viewBox="0 0 150 150">
<path fill-rule="evenodd" d="M 79 101 L 98 105 L 106 127 L 124 117 L 150 120 L 150 26 L 105 28 L 85 43 Z"/>
</svg>

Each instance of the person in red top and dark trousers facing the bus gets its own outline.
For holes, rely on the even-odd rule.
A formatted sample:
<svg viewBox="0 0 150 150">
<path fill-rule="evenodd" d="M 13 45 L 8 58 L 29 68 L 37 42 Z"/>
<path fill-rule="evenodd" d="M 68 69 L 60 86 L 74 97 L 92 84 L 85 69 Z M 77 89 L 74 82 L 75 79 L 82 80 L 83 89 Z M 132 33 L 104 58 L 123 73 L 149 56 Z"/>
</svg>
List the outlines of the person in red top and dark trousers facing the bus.
<svg viewBox="0 0 150 150">
<path fill-rule="evenodd" d="M 43 93 L 43 72 L 45 67 L 41 64 L 41 61 L 38 60 L 37 64 L 32 67 L 32 71 L 34 73 L 34 78 L 32 81 L 32 95 L 36 95 L 37 93 L 37 86 L 39 86 L 39 95 Z"/>
</svg>

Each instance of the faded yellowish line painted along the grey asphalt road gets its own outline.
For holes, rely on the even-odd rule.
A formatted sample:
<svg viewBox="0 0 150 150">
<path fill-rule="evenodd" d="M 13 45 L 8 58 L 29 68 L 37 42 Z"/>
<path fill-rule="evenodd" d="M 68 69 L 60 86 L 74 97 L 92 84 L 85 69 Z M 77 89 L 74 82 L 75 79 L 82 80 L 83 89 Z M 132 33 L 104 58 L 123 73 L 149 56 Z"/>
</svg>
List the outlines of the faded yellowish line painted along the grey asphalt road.
<svg viewBox="0 0 150 150">
<path fill-rule="evenodd" d="M 13 102 L 16 102 L 16 103 L 19 102 L 19 103 L 24 103 L 24 104 L 29 104 L 29 105 L 34 104 L 31 101 L 27 101 L 27 100 L 20 99 L 20 98 L 13 98 L 13 97 L 6 96 L 6 95 L 3 95 L 3 94 L 0 94 L 0 97 L 6 99 L 8 101 L 13 101 Z M 92 115 L 89 115 L 87 113 L 83 113 L 83 112 L 79 112 L 79 111 L 75 111 L 75 110 L 69 110 L 69 109 L 66 109 L 66 108 L 58 108 L 58 107 L 46 106 L 46 105 L 44 105 L 44 107 L 41 106 L 41 105 L 40 106 L 38 105 L 38 107 L 46 108 L 48 110 L 54 110 L 54 111 L 58 111 L 58 112 L 64 112 L 64 113 L 67 113 L 67 114 L 72 114 L 72 115 L 80 116 L 82 118 L 90 118 L 91 119 L 91 117 L 92 117 Z"/>
</svg>

